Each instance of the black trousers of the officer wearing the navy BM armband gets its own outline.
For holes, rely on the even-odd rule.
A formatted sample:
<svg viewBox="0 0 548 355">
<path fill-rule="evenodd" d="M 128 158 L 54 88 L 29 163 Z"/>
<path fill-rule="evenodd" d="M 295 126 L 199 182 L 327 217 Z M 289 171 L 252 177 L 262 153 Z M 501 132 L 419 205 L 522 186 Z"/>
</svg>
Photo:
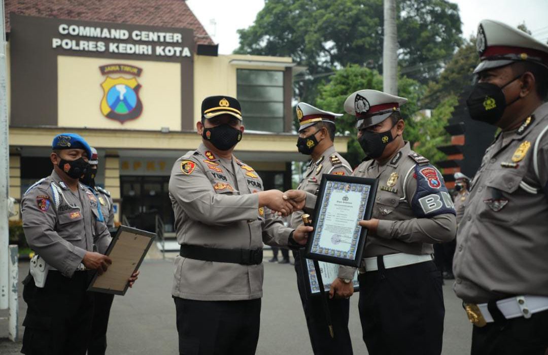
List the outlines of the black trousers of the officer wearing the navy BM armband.
<svg viewBox="0 0 548 355">
<path fill-rule="evenodd" d="M 443 291 L 432 261 L 359 275 L 359 318 L 370 355 L 439 355 Z"/>
</svg>

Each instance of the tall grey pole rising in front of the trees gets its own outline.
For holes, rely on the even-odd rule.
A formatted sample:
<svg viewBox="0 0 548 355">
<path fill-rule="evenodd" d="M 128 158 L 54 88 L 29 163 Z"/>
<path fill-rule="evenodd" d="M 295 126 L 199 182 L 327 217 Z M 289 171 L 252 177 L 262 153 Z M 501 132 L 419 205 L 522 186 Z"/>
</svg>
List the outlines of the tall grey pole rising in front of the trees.
<svg viewBox="0 0 548 355">
<path fill-rule="evenodd" d="M 396 0 L 384 0 L 383 91 L 387 94 L 398 94 Z"/>
</svg>

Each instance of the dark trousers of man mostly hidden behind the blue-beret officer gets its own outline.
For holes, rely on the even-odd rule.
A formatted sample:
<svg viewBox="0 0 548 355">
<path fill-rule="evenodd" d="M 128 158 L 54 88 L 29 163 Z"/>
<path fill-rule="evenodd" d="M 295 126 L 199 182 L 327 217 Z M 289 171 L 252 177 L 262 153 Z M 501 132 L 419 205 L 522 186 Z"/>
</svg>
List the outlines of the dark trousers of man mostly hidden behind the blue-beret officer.
<svg viewBox="0 0 548 355">
<path fill-rule="evenodd" d="M 114 295 L 101 292 L 92 292 L 94 296 L 94 310 L 92 334 L 89 337 L 88 355 L 104 355 L 106 351 L 106 330 L 109 327 L 110 307 Z"/>
</svg>

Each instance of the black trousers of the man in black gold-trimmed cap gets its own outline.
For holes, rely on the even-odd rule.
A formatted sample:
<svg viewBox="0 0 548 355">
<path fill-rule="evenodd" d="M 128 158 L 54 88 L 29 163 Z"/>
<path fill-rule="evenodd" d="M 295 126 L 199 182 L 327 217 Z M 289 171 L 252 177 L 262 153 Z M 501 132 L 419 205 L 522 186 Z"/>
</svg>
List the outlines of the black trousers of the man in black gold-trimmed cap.
<svg viewBox="0 0 548 355">
<path fill-rule="evenodd" d="M 195 301 L 173 297 L 179 354 L 253 355 L 259 341 L 261 299 Z"/>
</svg>

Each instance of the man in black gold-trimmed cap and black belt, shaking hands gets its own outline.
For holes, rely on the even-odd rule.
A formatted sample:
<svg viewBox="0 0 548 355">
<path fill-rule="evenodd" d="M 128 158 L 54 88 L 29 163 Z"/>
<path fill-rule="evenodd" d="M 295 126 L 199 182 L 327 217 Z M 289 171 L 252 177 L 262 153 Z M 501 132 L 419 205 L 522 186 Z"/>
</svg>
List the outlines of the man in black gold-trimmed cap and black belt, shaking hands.
<svg viewBox="0 0 548 355">
<path fill-rule="evenodd" d="M 238 100 L 210 96 L 197 122 L 202 144 L 179 158 L 169 180 L 180 255 L 172 294 L 181 354 L 254 354 L 262 296 L 262 243 L 306 243 L 284 227 L 292 206 L 233 156 L 244 127 Z M 299 244 L 298 244 L 299 243 Z"/>
</svg>

